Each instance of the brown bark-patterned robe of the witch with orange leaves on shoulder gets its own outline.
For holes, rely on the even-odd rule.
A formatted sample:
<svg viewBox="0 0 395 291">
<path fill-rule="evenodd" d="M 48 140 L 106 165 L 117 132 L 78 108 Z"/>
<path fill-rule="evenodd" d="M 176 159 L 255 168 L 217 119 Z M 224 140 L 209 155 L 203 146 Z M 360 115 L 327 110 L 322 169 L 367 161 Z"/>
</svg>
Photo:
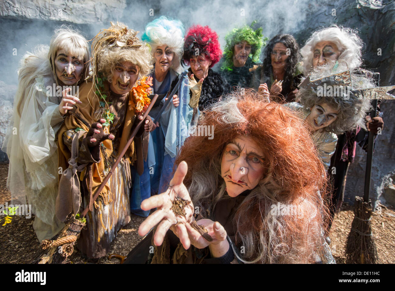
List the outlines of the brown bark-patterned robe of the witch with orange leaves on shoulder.
<svg viewBox="0 0 395 291">
<path fill-rule="evenodd" d="M 111 169 L 118 156 L 118 151 L 126 145 L 130 137 L 135 120 L 135 100 L 130 92 L 124 101 L 126 103 L 124 106 L 122 104 L 110 106 L 110 111 L 118 114 L 115 116 L 113 124 L 110 125 L 110 129 L 103 127 L 103 132 L 111 132 L 116 137 L 113 141 L 107 139 L 102 142 L 102 145 L 98 147 L 100 158 L 97 160 L 96 155 L 92 156 L 86 138 L 90 125 L 98 122 L 102 115 L 99 98 L 94 91 L 92 82 L 80 86 L 79 99 L 82 104 L 77 104 L 73 110 L 70 110 L 64 125 L 58 131 L 58 152 L 59 167 L 66 169 L 71 156 L 71 137 L 77 127 L 85 131 L 82 134 L 79 131 L 79 154 L 76 161 L 78 165 L 88 164 L 79 173 L 82 196 L 80 212 L 87 205 L 89 205 L 90 211 L 86 215 L 86 229 L 81 232 L 77 247 L 88 257 L 99 258 L 105 256 L 109 251 L 109 244 L 115 239 L 117 231 L 130 221 L 130 186 L 132 181 L 130 163 L 133 164 L 136 160 L 134 142 L 94 203 L 92 195 Z M 132 101 L 130 104 L 129 100 Z M 119 112 L 116 112 L 117 110 Z M 70 195 L 67 189 L 59 190 L 57 215 L 58 212 L 62 212 L 62 208 L 67 208 L 67 205 L 62 204 L 62 202 L 69 201 L 62 199 L 67 195 Z M 62 214 L 64 215 L 64 213 Z"/>
</svg>

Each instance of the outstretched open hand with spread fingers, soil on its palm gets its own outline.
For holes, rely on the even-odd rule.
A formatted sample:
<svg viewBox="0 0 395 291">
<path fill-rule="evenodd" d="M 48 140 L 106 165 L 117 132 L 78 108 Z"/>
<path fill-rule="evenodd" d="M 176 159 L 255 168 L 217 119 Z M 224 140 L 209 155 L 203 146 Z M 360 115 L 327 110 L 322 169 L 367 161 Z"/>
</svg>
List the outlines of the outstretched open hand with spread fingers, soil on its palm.
<svg viewBox="0 0 395 291">
<path fill-rule="evenodd" d="M 177 227 L 177 236 L 185 249 L 190 247 L 190 239 L 186 229 L 186 224 L 192 222 L 194 206 L 183 181 L 188 171 L 188 165 L 182 161 L 174 173 L 173 179 L 166 192 L 151 196 L 141 202 L 141 209 L 148 211 L 158 208 L 149 215 L 139 227 L 139 235 L 145 236 L 151 228 L 158 224 L 154 234 L 154 244 L 162 245 L 166 232 L 172 227 Z M 179 205 L 179 207 L 177 207 Z M 180 206 L 181 205 L 181 206 Z M 178 209 L 176 214 L 173 209 Z"/>
</svg>

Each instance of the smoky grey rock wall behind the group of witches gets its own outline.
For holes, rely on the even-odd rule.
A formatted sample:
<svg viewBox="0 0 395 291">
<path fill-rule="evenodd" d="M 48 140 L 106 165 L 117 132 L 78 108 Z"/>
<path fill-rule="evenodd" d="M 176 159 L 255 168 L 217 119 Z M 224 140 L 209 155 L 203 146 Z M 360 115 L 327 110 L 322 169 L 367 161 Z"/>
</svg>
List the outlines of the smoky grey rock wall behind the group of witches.
<svg viewBox="0 0 395 291">
<path fill-rule="evenodd" d="M 395 2 L 391 0 L 6 0 L 0 2 L 0 144 L 12 115 L 18 63 L 26 51 L 49 44 L 56 26 L 72 24 L 89 40 L 109 27 L 109 21 L 122 21 L 142 31 L 160 15 L 180 19 L 186 29 L 193 24 L 209 25 L 220 36 L 222 48 L 229 30 L 253 20 L 268 38 L 290 33 L 300 46 L 314 30 L 331 24 L 358 29 L 365 42 L 365 67 L 381 73 L 380 85 L 395 84 Z M 395 101 L 384 100 L 381 110 L 384 131 L 376 142 L 371 198 L 376 205 L 379 201 L 395 205 Z M 7 161 L 6 154 L 0 152 L 0 161 Z M 348 171 L 346 202 L 363 195 L 365 163 L 366 153 L 358 148 Z"/>
</svg>

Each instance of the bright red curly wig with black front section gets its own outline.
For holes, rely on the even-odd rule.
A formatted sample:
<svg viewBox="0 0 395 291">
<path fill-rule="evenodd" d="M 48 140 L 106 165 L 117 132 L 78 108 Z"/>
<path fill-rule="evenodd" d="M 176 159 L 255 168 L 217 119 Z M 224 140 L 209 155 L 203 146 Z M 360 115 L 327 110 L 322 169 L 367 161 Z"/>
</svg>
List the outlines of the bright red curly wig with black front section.
<svg viewBox="0 0 395 291">
<path fill-rule="evenodd" d="M 211 60 L 210 68 L 221 59 L 222 51 L 218 42 L 218 34 L 208 26 L 196 25 L 188 30 L 182 56 L 184 65 L 190 65 L 189 60 L 195 55 L 196 49 L 199 49 L 199 54 L 204 53 Z"/>
</svg>

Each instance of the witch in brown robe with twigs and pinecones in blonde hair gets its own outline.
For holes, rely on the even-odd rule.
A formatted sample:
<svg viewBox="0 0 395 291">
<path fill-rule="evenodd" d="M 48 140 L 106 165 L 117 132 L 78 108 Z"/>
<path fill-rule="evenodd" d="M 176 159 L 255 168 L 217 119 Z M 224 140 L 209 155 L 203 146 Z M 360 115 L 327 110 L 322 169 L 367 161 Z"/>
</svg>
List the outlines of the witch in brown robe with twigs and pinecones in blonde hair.
<svg viewBox="0 0 395 291">
<path fill-rule="evenodd" d="M 71 166 L 81 179 L 81 209 L 89 206 L 87 228 L 77 241 L 89 258 L 100 258 L 109 251 L 117 231 L 130 221 L 130 164 L 143 170 L 142 142 L 135 139 L 96 201 L 92 195 L 124 148 L 130 133 L 149 104 L 149 85 L 145 75 L 152 69 L 149 47 L 136 37 L 137 32 L 122 23 L 102 30 L 93 40 L 93 78 L 80 88 L 78 108 L 66 116 L 58 132 L 59 165 Z M 145 121 L 149 130 L 149 120 Z M 140 132 L 140 136 L 141 136 Z M 68 161 L 75 161 L 69 165 Z M 70 181 L 60 178 L 56 215 L 62 221 L 70 212 Z M 71 188 L 74 189 L 74 188 Z M 77 205 L 78 207 L 78 205 Z"/>
</svg>

